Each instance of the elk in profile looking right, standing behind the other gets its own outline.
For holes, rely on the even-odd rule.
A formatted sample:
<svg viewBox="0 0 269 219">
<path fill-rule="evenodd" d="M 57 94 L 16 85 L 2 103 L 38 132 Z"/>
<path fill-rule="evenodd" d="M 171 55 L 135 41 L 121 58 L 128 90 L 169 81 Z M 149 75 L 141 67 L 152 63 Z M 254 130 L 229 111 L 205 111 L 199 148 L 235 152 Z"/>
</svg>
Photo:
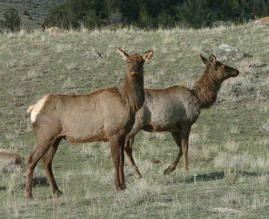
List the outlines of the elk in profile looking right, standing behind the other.
<svg viewBox="0 0 269 219">
<path fill-rule="evenodd" d="M 201 54 L 199 56 L 206 64 L 206 69 L 192 89 L 179 85 L 164 89 L 144 89 L 144 105 L 135 115 L 135 125 L 126 136 L 124 148 L 129 163 L 135 170 L 135 177 L 141 177 L 141 174 L 132 156 L 132 146 L 135 134 L 141 129 L 148 132 L 169 131 L 178 145 L 178 156 L 164 174 L 175 170 L 182 155 L 183 171 L 188 171 L 188 141 L 192 124 L 201 109 L 208 108 L 215 102 L 221 83 L 239 74 L 237 69 L 217 61 L 212 53 L 209 60 Z"/>
</svg>

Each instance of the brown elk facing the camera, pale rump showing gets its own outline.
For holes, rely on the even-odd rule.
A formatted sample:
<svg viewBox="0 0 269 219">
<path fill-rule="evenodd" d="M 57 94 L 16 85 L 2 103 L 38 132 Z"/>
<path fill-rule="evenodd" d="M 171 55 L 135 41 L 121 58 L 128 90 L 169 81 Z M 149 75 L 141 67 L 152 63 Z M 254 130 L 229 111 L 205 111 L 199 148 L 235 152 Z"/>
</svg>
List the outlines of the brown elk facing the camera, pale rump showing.
<svg viewBox="0 0 269 219">
<path fill-rule="evenodd" d="M 143 63 L 151 59 L 153 51 L 141 56 L 117 52 L 127 62 L 122 89 L 103 88 L 89 94 L 49 94 L 29 107 L 36 136 L 35 147 L 27 158 L 25 197 L 32 199 L 33 171 L 39 159 L 47 173 L 51 190 L 58 189 L 52 173 L 52 160 L 62 139 L 70 143 L 109 141 L 114 164 L 114 186 L 125 189 L 123 174 L 126 134 L 135 123 L 135 113 L 144 102 Z"/>
</svg>

